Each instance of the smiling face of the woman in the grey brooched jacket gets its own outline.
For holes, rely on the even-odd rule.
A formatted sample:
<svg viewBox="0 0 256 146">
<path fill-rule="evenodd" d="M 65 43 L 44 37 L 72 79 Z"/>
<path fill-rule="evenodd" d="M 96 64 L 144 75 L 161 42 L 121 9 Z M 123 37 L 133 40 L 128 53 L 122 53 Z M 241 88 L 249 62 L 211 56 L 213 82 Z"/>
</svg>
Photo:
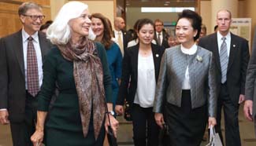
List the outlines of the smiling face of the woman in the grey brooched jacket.
<svg viewBox="0 0 256 146">
<path fill-rule="evenodd" d="M 176 24 L 176 36 L 183 46 L 190 48 L 195 43 L 194 37 L 196 34 L 197 30 L 192 27 L 191 20 L 181 18 Z"/>
</svg>

